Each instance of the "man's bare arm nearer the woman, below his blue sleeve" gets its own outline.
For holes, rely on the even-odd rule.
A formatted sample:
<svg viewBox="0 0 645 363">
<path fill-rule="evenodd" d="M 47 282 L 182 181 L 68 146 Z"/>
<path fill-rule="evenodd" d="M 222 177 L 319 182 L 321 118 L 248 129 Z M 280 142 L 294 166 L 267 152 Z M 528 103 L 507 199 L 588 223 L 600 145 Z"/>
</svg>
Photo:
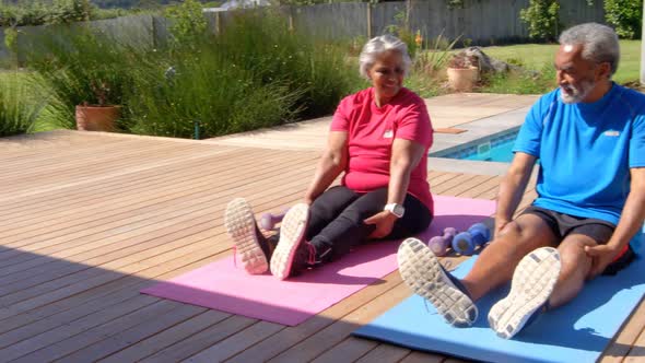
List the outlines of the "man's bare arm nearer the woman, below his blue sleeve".
<svg viewBox="0 0 645 363">
<path fill-rule="evenodd" d="M 526 185 L 531 175 L 536 156 L 516 152 L 506 175 L 500 184 L 497 194 L 497 210 L 495 212 L 495 235 L 513 219 Z"/>
</svg>

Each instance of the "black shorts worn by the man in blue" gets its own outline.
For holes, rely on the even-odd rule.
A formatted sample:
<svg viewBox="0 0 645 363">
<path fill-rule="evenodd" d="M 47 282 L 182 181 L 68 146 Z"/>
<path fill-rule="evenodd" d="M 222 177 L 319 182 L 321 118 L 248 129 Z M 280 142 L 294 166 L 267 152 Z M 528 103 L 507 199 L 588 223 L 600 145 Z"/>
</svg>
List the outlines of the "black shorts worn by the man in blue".
<svg viewBox="0 0 645 363">
<path fill-rule="evenodd" d="M 611 238 L 613 230 L 615 230 L 615 225 L 607 221 L 564 214 L 535 206 L 525 209 L 521 214 L 533 214 L 541 218 L 560 241 L 563 241 L 570 234 L 582 234 L 594 238 L 599 245 L 605 245 Z M 632 247 L 628 245 L 613 262 L 605 269 L 602 274 L 615 274 L 628 267 L 635 256 Z"/>
</svg>

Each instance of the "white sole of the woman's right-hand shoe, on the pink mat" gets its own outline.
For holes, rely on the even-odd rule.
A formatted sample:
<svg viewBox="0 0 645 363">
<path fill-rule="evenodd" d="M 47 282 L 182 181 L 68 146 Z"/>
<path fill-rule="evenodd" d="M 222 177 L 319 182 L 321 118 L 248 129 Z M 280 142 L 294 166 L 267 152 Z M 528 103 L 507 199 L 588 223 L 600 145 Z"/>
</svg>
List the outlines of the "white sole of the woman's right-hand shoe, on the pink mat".
<svg viewBox="0 0 645 363">
<path fill-rule="evenodd" d="M 280 280 L 291 274 L 293 258 L 305 236 L 309 206 L 301 203 L 289 209 L 280 224 L 280 241 L 271 256 L 271 273 Z"/>
</svg>

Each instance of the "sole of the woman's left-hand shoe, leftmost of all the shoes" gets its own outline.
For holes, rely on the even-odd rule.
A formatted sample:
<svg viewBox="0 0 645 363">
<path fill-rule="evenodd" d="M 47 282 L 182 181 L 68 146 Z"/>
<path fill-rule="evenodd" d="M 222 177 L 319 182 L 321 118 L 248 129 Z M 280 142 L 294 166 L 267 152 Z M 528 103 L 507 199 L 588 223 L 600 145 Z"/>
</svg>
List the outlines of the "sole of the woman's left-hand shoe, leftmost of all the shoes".
<svg viewBox="0 0 645 363">
<path fill-rule="evenodd" d="M 224 214 L 226 232 L 233 239 L 246 272 L 261 274 L 269 269 L 267 256 L 256 236 L 256 220 L 250 206 L 243 198 L 233 199 Z"/>
</svg>

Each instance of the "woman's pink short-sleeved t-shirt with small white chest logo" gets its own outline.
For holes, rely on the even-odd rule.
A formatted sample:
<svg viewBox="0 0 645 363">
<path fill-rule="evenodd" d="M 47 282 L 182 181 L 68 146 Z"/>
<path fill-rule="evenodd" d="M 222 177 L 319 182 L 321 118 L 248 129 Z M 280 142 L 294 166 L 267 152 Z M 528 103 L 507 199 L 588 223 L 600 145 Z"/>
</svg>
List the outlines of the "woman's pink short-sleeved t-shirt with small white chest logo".
<svg viewBox="0 0 645 363">
<path fill-rule="evenodd" d="M 383 107 L 374 103 L 374 90 L 360 91 L 344 97 L 331 121 L 331 131 L 347 131 L 349 163 L 342 185 L 356 192 L 368 192 L 387 187 L 391 147 L 395 139 L 432 145 L 432 125 L 425 103 L 408 89 Z M 410 174 L 408 192 L 433 211 L 433 199 L 427 184 L 427 157 Z"/>
</svg>

